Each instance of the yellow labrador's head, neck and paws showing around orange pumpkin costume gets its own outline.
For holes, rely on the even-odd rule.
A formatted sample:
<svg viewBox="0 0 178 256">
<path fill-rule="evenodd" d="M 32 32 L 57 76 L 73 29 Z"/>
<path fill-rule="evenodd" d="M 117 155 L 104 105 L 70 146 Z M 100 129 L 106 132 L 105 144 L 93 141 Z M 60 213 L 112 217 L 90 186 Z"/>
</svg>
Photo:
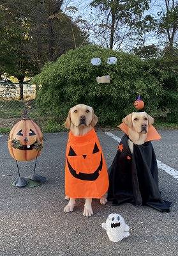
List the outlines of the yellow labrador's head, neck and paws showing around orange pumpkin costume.
<svg viewBox="0 0 178 256">
<path fill-rule="evenodd" d="M 67 129 L 70 129 L 71 133 L 75 136 L 83 136 L 93 129 L 98 122 L 98 117 L 94 114 L 93 108 L 84 104 L 78 104 L 70 109 L 66 122 L 64 123 Z M 64 207 L 64 212 L 72 212 L 75 206 L 75 198 L 65 197 L 70 201 Z M 91 207 L 92 198 L 85 198 L 84 216 L 92 216 L 93 209 Z M 101 204 L 106 204 L 106 196 L 100 198 Z"/>
</svg>

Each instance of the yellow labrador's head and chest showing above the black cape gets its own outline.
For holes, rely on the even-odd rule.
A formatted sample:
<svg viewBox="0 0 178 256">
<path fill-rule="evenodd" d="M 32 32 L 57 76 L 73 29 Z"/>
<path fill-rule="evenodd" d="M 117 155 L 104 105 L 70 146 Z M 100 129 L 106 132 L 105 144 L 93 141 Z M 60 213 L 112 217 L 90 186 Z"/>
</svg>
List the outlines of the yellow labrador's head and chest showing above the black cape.
<svg viewBox="0 0 178 256">
<path fill-rule="evenodd" d="M 148 125 L 154 123 L 154 118 L 146 112 L 133 112 L 127 115 L 122 122 L 128 125 L 128 145 L 133 153 L 133 143 L 137 145 L 144 144 L 147 139 Z"/>
</svg>

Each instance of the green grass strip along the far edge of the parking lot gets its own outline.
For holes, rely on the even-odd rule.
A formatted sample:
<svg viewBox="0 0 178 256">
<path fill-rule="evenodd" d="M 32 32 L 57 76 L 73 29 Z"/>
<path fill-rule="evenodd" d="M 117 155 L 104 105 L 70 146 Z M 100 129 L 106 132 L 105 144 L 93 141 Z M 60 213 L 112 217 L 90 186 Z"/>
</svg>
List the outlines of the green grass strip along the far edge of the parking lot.
<svg viewBox="0 0 178 256">
<path fill-rule="evenodd" d="M 24 109 L 25 101 L 20 100 L 0 100 L 0 133 L 8 133 L 10 132 L 13 124 L 18 121 L 18 118 L 21 116 L 21 111 Z M 29 109 L 29 116 L 38 124 L 43 132 L 60 132 L 67 131 L 64 127 L 64 119 L 56 118 L 54 114 L 52 115 L 48 111 L 45 113 L 41 113 L 38 107 L 36 106 L 35 100 L 31 102 L 31 109 Z M 2 118 L 2 119 L 1 119 Z M 12 119 L 13 118 L 13 119 Z M 178 129 L 178 124 L 176 123 L 168 123 L 157 120 L 154 123 L 154 127 L 156 129 L 162 130 L 173 130 Z M 100 130 L 118 130 L 117 125 L 112 126 L 100 126 L 100 124 L 96 127 L 96 129 Z"/>
</svg>

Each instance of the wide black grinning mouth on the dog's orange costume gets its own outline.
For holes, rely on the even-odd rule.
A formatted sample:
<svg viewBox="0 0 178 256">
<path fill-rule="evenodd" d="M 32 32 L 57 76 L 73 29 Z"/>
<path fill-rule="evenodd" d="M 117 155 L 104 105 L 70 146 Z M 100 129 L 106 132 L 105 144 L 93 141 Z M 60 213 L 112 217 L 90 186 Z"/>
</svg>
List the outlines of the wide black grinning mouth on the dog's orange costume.
<svg viewBox="0 0 178 256">
<path fill-rule="evenodd" d="M 83 172 L 79 172 L 77 174 L 76 170 L 74 170 L 72 167 L 71 167 L 71 164 L 69 163 L 68 161 L 68 158 L 67 158 L 67 163 L 68 163 L 68 168 L 70 170 L 70 173 L 73 177 L 77 178 L 77 179 L 80 179 L 80 180 L 96 180 L 98 178 L 98 176 L 100 175 L 100 171 L 102 170 L 102 167 L 103 167 L 103 158 L 102 158 L 102 154 L 101 154 L 101 160 L 100 160 L 100 164 L 98 166 L 98 168 L 96 169 L 96 171 L 94 171 L 93 173 L 83 173 Z"/>
</svg>

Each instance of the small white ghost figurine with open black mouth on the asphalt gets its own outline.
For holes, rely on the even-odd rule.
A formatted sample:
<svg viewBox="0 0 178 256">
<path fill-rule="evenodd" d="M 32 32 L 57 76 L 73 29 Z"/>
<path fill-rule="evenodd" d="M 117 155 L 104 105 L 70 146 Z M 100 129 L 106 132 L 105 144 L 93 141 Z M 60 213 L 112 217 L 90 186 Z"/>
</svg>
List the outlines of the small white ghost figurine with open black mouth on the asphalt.
<svg viewBox="0 0 178 256">
<path fill-rule="evenodd" d="M 109 214 L 107 221 L 103 222 L 101 226 L 107 230 L 108 238 L 112 242 L 119 242 L 124 237 L 130 236 L 130 227 L 126 225 L 124 218 L 117 213 Z"/>
</svg>

